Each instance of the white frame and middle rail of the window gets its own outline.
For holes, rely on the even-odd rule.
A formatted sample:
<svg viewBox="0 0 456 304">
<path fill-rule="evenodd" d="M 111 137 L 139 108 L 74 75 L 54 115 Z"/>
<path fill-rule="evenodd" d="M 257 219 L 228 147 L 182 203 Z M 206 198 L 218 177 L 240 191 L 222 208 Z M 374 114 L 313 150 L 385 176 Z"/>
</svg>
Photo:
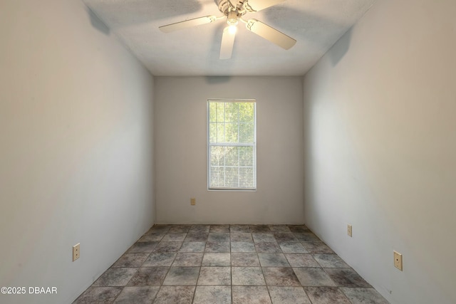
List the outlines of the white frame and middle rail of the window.
<svg viewBox="0 0 456 304">
<path fill-rule="evenodd" d="M 210 142 L 210 112 L 209 103 L 254 103 L 254 142 L 252 143 L 211 143 Z M 253 147 L 253 169 L 254 169 L 254 187 L 211 187 L 211 147 Z M 207 189 L 209 191 L 257 191 L 257 100 L 255 99 L 220 99 L 211 98 L 207 100 Z"/>
</svg>

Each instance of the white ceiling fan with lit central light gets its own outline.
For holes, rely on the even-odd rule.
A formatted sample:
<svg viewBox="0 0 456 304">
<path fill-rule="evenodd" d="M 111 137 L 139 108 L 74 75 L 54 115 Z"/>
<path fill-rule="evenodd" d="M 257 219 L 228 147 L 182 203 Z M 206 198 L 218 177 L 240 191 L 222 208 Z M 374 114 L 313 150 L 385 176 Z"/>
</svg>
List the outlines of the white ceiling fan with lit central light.
<svg viewBox="0 0 456 304">
<path fill-rule="evenodd" d="M 262 9 L 274 6 L 285 0 L 232 0 L 233 2 L 235 1 L 235 4 L 233 4 L 231 0 L 216 1 L 217 5 L 219 6 L 219 11 L 222 12 L 223 16 L 217 17 L 209 15 L 186 21 L 180 21 L 177 23 L 171 23 L 166 26 L 160 26 L 160 31 L 164 33 L 170 33 L 182 28 L 199 26 L 205 23 L 212 23 L 226 17 L 228 26 L 223 30 L 222 46 L 220 46 L 220 59 L 229 59 L 232 56 L 234 37 L 236 36 L 237 23 L 239 23 L 239 20 L 245 23 L 246 28 L 249 31 L 252 31 L 258 36 L 261 36 L 262 38 L 275 43 L 281 48 L 288 50 L 296 43 L 296 40 L 294 40 L 294 38 L 281 33 L 281 31 L 277 31 L 275 28 L 271 28 L 271 26 L 268 26 L 257 19 L 244 20 L 242 18 L 242 16 L 248 12 L 253 13 L 256 11 L 261 11 Z"/>
</svg>

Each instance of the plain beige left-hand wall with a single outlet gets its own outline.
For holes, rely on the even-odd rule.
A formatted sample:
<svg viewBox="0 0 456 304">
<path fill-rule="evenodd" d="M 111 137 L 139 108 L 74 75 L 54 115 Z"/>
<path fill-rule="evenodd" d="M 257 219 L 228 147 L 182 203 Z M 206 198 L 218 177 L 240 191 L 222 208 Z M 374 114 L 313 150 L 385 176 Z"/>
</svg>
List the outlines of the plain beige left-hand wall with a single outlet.
<svg viewBox="0 0 456 304">
<path fill-rule="evenodd" d="M 0 39 L 0 286 L 57 288 L 0 303 L 71 303 L 153 224 L 153 78 L 82 1 L 2 0 Z"/>
</svg>

